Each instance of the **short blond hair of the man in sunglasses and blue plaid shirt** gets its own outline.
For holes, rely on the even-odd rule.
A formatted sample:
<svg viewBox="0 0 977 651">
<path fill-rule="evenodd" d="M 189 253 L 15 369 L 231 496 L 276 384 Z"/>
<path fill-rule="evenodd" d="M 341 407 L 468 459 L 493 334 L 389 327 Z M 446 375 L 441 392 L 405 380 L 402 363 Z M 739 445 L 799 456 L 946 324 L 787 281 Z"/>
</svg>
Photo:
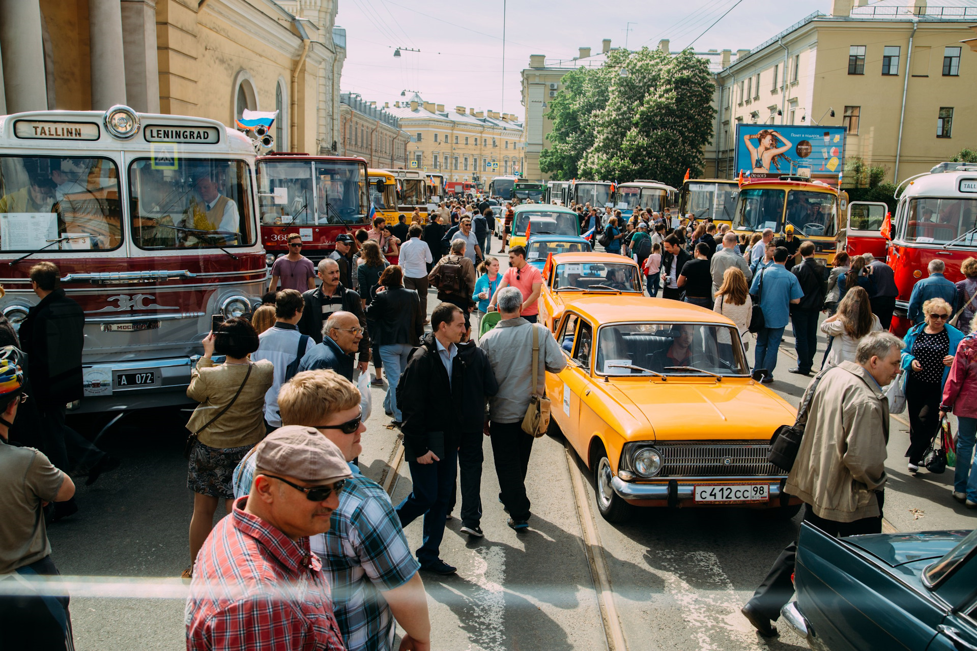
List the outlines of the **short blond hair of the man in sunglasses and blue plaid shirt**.
<svg viewBox="0 0 977 651">
<path fill-rule="evenodd" d="M 282 425 L 316 427 L 329 414 L 360 404 L 360 389 L 329 369 L 303 371 L 278 390 Z"/>
</svg>

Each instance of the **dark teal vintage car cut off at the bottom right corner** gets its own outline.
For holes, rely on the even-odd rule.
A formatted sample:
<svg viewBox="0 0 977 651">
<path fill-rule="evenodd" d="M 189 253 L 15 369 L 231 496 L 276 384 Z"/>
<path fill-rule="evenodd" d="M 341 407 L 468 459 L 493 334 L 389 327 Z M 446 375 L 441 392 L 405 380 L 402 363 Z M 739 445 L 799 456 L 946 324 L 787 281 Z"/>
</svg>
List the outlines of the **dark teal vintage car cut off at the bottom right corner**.
<svg viewBox="0 0 977 651">
<path fill-rule="evenodd" d="M 832 538 L 803 523 L 796 601 L 812 649 L 977 651 L 977 531 Z"/>
</svg>

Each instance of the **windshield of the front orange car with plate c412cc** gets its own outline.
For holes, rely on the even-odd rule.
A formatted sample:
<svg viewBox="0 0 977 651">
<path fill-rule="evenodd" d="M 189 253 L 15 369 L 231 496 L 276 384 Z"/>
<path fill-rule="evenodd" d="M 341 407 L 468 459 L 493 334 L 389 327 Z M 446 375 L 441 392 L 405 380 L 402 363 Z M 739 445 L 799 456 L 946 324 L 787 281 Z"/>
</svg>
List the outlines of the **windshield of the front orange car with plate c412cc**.
<svg viewBox="0 0 977 651">
<path fill-rule="evenodd" d="M 625 365 L 645 370 L 622 368 Z M 596 371 L 604 375 L 749 374 L 736 328 L 701 323 L 604 326 L 597 338 Z"/>
</svg>

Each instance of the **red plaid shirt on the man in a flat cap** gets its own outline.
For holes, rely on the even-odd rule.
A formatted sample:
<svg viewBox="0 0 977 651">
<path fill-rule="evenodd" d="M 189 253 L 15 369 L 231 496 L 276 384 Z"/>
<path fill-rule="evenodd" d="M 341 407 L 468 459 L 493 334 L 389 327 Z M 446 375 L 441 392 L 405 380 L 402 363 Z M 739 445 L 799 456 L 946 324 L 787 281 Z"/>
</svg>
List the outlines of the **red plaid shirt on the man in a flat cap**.
<svg viewBox="0 0 977 651">
<path fill-rule="evenodd" d="M 309 539 L 293 542 L 244 512 L 245 502 L 234 504 L 196 556 L 185 614 L 188 651 L 342 651 Z"/>
</svg>

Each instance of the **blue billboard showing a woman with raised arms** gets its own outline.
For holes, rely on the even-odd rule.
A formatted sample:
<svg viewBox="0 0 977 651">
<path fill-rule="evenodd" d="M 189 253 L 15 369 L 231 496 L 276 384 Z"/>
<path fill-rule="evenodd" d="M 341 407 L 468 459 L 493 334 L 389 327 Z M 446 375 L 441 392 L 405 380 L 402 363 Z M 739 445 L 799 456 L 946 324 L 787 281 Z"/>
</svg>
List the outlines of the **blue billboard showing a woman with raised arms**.
<svg viewBox="0 0 977 651">
<path fill-rule="evenodd" d="M 844 127 L 738 124 L 735 176 L 776 178 L 807 168 L 812 179 L 837 183 L 844 151 Z"/>
</svg>

